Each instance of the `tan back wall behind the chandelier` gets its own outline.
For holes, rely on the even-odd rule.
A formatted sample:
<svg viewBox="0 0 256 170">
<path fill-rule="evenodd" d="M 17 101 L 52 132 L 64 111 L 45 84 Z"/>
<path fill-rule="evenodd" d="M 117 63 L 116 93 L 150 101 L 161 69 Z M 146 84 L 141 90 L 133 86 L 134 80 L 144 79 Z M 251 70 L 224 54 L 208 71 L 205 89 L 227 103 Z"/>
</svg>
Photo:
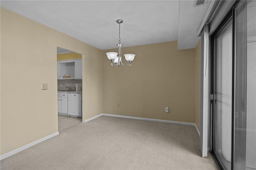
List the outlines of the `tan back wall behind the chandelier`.
<svg viewBox="0 0 256 170">
<path fill-rule="evenodd" d="M 194 123 L 195 49 L 177 49 L 176 41 L 124 47 L 136 56 L 118 69 L 106 57 L 117 49 L 103 50 L 103 113 Z"/>
</svg>

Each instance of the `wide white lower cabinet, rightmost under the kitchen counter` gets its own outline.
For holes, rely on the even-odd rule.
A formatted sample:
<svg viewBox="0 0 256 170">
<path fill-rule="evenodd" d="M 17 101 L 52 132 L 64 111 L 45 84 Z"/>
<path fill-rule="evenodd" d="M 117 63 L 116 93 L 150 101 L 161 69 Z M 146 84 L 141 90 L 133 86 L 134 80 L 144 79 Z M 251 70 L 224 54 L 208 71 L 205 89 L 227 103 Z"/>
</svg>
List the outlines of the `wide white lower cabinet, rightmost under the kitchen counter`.
<svg viewBox="0 0 256 170">
<path fill-rule="evenodd" d="M 68 93 L 68 115 L 82 116 L 81 93 Z"/>
</svg>

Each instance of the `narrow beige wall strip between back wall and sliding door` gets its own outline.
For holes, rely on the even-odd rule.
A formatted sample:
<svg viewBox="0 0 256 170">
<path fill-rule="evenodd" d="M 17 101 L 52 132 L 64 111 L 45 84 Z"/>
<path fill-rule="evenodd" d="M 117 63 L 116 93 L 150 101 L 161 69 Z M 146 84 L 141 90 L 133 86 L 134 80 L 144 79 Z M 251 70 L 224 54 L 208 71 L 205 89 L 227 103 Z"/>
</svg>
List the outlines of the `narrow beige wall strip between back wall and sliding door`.
<svg viewBox="0 0 256 170">
<path fill-rule="evenodd" d="M 195 123 L 200 131 L 201 40 L 195 48 Z"/>
</svg>

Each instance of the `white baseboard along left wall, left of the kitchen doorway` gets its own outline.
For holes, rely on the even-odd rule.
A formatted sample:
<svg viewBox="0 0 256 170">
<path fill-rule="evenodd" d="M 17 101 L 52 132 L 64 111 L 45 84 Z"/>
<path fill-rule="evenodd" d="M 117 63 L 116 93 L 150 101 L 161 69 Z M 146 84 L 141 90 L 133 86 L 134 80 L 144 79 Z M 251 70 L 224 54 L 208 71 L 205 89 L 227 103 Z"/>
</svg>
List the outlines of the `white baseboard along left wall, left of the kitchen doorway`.
<svg viewBox="0 0 256 170">
<path fill-rule="evenodd" d="M 0 156 L 0 160 L 2 160 L 2 159 L 4 159 L 4 158 L 7 158 L 7 157 L 9 157 L 9 156 L 12 156 L 13 154 L 16 154 L 16 153 L 18 153 L 18 152 L 20 152 L 20 151 L 22 151 L 22 150 L 24 150 L 24 149 L 26 149 L 26 148 L 29 148 L 29 147 L 31 147 L 31 146 L 34 146 L 34 145 L 36 145 L 36 144 L 38 144 L 38 143 L 40 143 L 40 142 L 42 142 L 42 141 L 44 141 L 44 140 L 47 140 L 47 139 L 49 139 L 49 138 L 52 138 L 52 137 L 54 137 L 54 136 L 56 136 L 56 135 L 58 135 L 58 134 L 59 134 L 59 132 L 55 132 L 55 133 L 53 133 L 53 134 L 50 134 L 50 135 L 45 136 L 45 137 L 43 137 L 43 138 L 40 138 L 40 139 L 38 139 L 38 140 L 36 140 L 36 141 L 34 141 L 34 142 L 31 142 L 31 143 L 29 143 L 29 144 L 26 144 L 26 145 L 24 145 L 24 146 L 22 146 L 22 147 L 20 147 L 20 148 L 17 148 L 17 149 L 15 149 L 15 150 L 12 150 L 12 151 L 10 151 L 10 152 L 7 152 L 6 154 L 2 154 L 2 155 Z"/>
</svg>

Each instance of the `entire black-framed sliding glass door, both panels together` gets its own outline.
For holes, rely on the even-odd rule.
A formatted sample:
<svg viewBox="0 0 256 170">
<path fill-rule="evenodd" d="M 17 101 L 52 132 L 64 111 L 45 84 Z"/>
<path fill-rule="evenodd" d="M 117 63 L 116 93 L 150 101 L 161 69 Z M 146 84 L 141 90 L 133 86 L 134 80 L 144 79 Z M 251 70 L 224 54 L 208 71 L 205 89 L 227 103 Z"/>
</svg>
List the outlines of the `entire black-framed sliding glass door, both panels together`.
<svg viewBox="0 0 256 170">
<path fill-rule="evenodd" d="M 240 1 L 212 34 L 212 154 L 256 170 L 256 1 Z"/>
</svg>

